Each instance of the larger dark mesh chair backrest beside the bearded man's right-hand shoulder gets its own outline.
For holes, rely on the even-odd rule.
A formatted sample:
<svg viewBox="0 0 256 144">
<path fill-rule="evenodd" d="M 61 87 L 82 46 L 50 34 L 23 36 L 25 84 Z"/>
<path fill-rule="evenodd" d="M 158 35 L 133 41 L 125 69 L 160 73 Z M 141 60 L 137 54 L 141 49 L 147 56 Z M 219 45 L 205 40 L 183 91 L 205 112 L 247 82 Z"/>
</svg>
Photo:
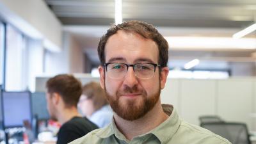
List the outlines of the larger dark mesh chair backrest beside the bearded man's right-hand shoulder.
<svg viewBox="0 0 256 144">
<path fill-rule="evenodd" d="M 250 138 L 246 124 L 230 122 L 202 123 L 201 127 L 212 131 L 223 138 L 227 138 L 232 144 L 250 144 Z"/>
</svg>

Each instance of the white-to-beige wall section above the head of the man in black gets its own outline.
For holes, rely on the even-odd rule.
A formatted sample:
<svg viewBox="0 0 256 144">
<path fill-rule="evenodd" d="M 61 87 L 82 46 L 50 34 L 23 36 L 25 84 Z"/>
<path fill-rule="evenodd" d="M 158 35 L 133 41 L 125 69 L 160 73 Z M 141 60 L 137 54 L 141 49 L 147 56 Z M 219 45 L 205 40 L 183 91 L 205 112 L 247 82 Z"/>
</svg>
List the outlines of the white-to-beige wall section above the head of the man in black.
<svg viewBox="0 0 256 144">
<path fill-rule="evenodd" d="M 54 76 L 64 73 L 83 73 L 83 47 L 70 33 L 63 33 L 63 49 L 61 52 L 45 53 L 45 74 Z"/>
</svg>

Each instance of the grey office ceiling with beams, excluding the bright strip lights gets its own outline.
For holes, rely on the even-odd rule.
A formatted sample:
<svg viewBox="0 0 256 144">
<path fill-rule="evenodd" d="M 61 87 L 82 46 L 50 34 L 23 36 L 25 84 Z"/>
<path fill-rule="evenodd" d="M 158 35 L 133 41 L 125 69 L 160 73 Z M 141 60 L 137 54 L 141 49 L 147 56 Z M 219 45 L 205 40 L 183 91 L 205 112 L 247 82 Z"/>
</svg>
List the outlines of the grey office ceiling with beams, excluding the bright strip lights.
<svg viewBox="0 0 256 144">
<path fill-rule="evenodd" d="M 45 1 L 62 22 L 64 31 L 76 38 L 93 63 L 98 63 L 97 43 L 109 24 L 115 22 L 115 0 Z M 255 0 L 123 0 L 122 4 L 124 21 L 143 20 L 154 24 L 164 36 L 231 37 L 256 19 Z M 247 37 L 256 38 L 255 33 Z M 252 62 L 255 61 L 253 52 L 255 50 L 171 49 L 170 61 L 201 58 L 218 63 Z"/>
</svg>

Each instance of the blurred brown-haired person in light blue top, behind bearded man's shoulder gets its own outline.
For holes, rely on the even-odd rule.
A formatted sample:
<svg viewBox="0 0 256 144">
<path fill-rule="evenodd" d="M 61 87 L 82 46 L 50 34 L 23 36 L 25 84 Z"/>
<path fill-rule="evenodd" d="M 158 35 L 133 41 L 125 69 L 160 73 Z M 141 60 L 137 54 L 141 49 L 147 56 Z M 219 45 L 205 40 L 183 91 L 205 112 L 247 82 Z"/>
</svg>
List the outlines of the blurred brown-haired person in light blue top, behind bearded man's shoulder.
<svg viewBox="0 0 256 144">
<path fill-rule="evenodd" d="M 105 127 L 112 120 L 113 111 L 99 83 L 92 81 L 83 86 L 83 93 L 77 106 L 82 114 L 98 127 Z"/>
</svg>

